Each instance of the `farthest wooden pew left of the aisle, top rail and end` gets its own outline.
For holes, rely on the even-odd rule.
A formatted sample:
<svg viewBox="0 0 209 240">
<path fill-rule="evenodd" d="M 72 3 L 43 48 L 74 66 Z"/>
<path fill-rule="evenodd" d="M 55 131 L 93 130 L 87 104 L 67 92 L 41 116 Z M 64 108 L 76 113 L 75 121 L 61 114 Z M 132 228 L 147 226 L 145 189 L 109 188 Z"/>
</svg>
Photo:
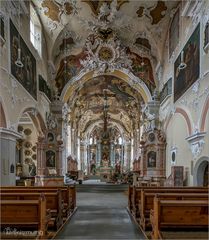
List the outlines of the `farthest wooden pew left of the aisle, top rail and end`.
<svg viewBox="0 0 209 240">
<path fill-rule="evenodd" d="M 22 187 L 22 186 L 9 186 L 9 187 L 1 187 L 0 192 L 56 192 L 58 189 L 61 191 L 62 201 L 64 203 L 64 209 L 63 209 L 63 218 L 66 219 L 70 216 L 70 214 L 74 211 L 76 207 L 76 188 L 75 186 L 63 186 L 63 187 L 57 187 L 57 186 L 28 186 L 28 187 Z"/>
</svg>

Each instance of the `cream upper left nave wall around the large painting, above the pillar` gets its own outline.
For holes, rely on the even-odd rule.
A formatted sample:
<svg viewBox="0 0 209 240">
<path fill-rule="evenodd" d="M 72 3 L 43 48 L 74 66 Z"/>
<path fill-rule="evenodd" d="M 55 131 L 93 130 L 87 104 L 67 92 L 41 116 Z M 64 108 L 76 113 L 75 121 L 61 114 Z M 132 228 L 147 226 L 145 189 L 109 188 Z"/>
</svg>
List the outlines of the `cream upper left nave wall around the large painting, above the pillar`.
<svg viewBox="0 0 209 240">
<path fill-rule="evenodd" d="M 0 96 L 6 106 L 6 114 L 8 116 L 8 128 L 12 127 L 16 129 L 18 119 L 24 109 L 29 107 L 35 107 L 41 113 L 43 119 L 45 119 L 45 112 L 49 109 L 49 101 L 42 93 L 38 91 L 38 75 L 42 75 L 45 80 L 47 80 L 47 48 L 42 37 L 42 58 L 40 58 L 38 52 L 33 47 L 30 42 L 30 18 L 29 18 L 29 1 L 26 1 L 26 6 L 28 8 L 28 13 L 23 14 L 20 17 L 20 35 L 24 39 L 27 47 L 31 51 L 32 55 L 36 59 L 36 81 L 37 81 L 37 101 L 28 93 L 28 91 L 15 80 L 14 76 L 11 74 L 10 69 L 10 28 L 9 22 L 10 18 L 13 21 L 17 29 L 19 29 L 19 17 L 17 15 L 9 15 L 9 9 L 6 9 L 6 2 L 1 1 L 1 12 L 4 15 L 5 21 L 5 43 L 0 49 Z M 12 9 L 10 9 L 11 11 Z M 9 18 L 10 17 L 10 18 Z M 43 34 L 43 30 L 42 30 Z"/>
</svg>

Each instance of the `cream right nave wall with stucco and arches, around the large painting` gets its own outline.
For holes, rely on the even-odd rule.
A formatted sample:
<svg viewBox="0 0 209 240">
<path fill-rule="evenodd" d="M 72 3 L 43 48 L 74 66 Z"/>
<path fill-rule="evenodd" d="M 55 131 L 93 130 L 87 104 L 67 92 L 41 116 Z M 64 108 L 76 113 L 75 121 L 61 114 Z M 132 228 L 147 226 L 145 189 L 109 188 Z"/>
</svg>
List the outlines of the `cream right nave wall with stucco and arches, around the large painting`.
<svg viewBox="0 0 209 240">
<path fill-rule="evenodd" d="M 168 177 L 171 172 L 170 149 L 173 144 L 176 144 L 176 165 L 184 166 L 184 168 L 189 169 L 189 181 L 187 182 L 188 185 L 193 185 L 193 182 L 195 182 L 193 179 L 193 170 L 197 159 L 200 159 L 203 156 L 209 156 L 208 114 L 205 119 L 205 126 L 207 125 L 207 127 L 205 127 L 205 129 L 201 128 L 201 122 L 204 115 L 204 106 L 206 105 L 206 101 L 209 95 L 209 51 L 205 51 L 203 49 L 205 24 L 207 21 L 209 21 L 208 12 L 209 2 L 205 1 L 205 5 L 203 4 L 201 10 L 196 14 L 193 14 L 193 17 L 184 16 L 183 34 L 182 38 L 180 38 L 182 42 L 179 42 L 171 58 L 168 57 L 168 44 L 165 47 L 163 78 L 160 84 L 161 90 L 163 84 L 167 82 L 170 77 L 172 77 L 172 94 L 161 103 L 160 107 L 160 118 L 163 122 L 164 130 L 167 136 L 166 175 Z M 187 89 L 186 92 L 178 100 L 176 100 L 176 102 L 174 102 L 174 63 L 199 22 L 199 79 L 193 83 L 192 86 Z M 182 24 L 181 19 L 180 24 Z M 180 112 L 182 112 L 182 114 L 180 114 Z M 185 115 L 185 117 L 183 117 L 183 115 Z M 190 132 L 188 131 L 189 128 Z M 206 132 L 206 135 L 203 137 L 205 143 L 201 145 L 201 147 L 199 146 L 196 150 L 194 148 L 192 149 L 191 143 L 189 144 L 189 140 L 186 138 L 195 136 L 195 134 L 202 132 Z M 196 139 L 197 141 L 200 141 L 198 140 L 198 137 Z"/>
</svg>

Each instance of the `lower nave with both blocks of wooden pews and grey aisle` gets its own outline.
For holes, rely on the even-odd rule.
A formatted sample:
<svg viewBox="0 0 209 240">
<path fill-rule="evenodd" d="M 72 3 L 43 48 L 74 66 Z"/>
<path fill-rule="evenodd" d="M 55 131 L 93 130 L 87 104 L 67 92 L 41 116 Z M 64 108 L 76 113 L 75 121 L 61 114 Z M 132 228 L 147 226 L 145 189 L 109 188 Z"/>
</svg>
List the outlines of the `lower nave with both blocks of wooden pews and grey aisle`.
<svg viewBox="0 0 209 240">
<path fill-rule="evenodd" d="M 208 187 L 143 184 L 1 187 L 1 239 L 208 239 Z"/>
</svg>

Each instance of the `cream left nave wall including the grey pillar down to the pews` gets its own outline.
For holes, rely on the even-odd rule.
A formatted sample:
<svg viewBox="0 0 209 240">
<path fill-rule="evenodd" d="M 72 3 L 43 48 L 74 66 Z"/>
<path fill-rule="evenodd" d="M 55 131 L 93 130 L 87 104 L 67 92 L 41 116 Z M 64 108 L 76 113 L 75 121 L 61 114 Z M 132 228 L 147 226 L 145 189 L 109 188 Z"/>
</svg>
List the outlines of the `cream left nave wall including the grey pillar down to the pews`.
<svg viewBox="0 0 209 240">
<path fill-rule="evenodd" d="M 0 100 L 4 107 L 5 119 L 7 122 L 8 132 L 3 135 L 0 129 L 0 145 L 1 149 L 1 184 L 15 185 L 16 178 L 16 139 L 21 138 L 17 133 L 17 126 L 22 113 L 27 108 L 34 108 L 39 112 L 45 121 L 46 112 L 49 112 L 50 101 L 45 95 L 38 91 L 39 74 L 47 81 L 47 47 L 42 36 L 42 57 L 30 42 L 30 18 L 29 18 L 29 1 L 24 1 L 28 12 L 23 13 L 20 17 L 20 35 L 24 39 L 25 44 L 36 59 L 36 84 L 37 84 L 37 100 L 34 99 L 29 92 L 15 79 L 11 74 L 10 64 L 10 18 L 19 29 L 19 17 L 17 9 L 8 7 L 10 1 L 0 1 L 0 11 L 4 16 L 5 42 L 0 46 Z M 16 12 L 12 15 L 12 12 Z M 42 29 L 43 34 L 43 29 Z M 17 137 L 13 135 L 16 134 Z M 14 165 L 14 173 L 10 173 L 10 166 Z"/>
</svg>

